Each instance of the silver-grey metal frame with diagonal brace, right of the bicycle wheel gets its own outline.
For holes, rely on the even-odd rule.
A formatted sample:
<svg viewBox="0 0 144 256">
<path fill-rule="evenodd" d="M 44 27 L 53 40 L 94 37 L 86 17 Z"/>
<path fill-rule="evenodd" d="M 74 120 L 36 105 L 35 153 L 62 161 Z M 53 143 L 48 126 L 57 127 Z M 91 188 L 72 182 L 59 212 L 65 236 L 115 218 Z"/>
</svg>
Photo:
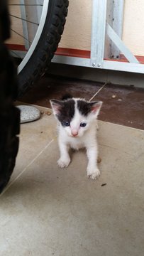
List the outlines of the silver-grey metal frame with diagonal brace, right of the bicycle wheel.
<svg viewBox="0 0 144 256">
<path fill-rule="evenodd" d="M 123 4 L 124 0 L 93 0 L 90 58 L 55 55 L 52 62 L 144 73 L 144 65 L 139 63 L 121 40 Z M 123 53 L 129 63 L 104 59 L 107 56 L 111 57 L 111 55 L 116 58 L 116 55 L 119 56 L 120 53 Z"/>
</svg>

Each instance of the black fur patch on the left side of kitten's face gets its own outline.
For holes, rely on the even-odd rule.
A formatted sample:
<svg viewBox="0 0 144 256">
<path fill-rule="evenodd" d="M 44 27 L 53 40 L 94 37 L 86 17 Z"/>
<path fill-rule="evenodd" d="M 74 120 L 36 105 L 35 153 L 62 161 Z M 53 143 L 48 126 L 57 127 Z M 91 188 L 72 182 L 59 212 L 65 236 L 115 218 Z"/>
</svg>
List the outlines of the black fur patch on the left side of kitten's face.
<svg viewBox="0 0 144 256">
<path fill-rule="evenodd" d="M 57 114 L 57 119 L 65 126 L 65 122 L 71 122 L 74 117 L 74 100 L 64 100 L 61 102 L 60 113 Z"/>
</svg>

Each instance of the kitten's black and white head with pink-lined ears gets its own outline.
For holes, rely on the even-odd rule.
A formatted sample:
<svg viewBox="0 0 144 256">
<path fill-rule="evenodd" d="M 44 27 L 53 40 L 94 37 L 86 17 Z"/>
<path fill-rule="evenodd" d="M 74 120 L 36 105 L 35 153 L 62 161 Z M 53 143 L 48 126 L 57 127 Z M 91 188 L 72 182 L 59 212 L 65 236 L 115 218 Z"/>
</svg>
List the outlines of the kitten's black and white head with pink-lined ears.
<svg viewBox="0 0 144 256">
<path fill-rule="evenodd" d="M 79 98 L 50 100 L 53 113 L 70 137 L 82 137 L 96 120 L 102 102 L 87 102 Z"/>
</svg>

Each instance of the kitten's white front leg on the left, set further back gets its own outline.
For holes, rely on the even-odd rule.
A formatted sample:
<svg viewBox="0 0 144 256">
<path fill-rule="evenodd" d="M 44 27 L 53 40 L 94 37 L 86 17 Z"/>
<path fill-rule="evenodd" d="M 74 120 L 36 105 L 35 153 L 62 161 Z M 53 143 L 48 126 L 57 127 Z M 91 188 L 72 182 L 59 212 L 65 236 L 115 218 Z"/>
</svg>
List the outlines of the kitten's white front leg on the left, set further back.
<svg viewBox="0 0 144 256">
<path fill-rule="evenodd" d="M 64 168 L 70 164 L 69 147 L 65 143 L 59 141 L 59 148 L 60 148 L 60 159 L 57 161 L 57 164 L 61 168 Z"/>
</svg>

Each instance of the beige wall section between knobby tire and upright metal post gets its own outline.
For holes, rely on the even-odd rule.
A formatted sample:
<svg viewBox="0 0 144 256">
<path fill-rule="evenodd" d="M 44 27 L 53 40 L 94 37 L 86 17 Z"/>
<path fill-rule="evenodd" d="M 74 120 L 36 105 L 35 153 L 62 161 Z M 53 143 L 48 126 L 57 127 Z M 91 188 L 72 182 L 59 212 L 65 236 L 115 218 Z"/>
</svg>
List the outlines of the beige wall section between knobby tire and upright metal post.
<svg viewBox="0 0 144 256">
<path fill-rule="evenodd" d="M 92 0 L 70 0 L 60 47 L 90 50 Z"/>
</svg>

